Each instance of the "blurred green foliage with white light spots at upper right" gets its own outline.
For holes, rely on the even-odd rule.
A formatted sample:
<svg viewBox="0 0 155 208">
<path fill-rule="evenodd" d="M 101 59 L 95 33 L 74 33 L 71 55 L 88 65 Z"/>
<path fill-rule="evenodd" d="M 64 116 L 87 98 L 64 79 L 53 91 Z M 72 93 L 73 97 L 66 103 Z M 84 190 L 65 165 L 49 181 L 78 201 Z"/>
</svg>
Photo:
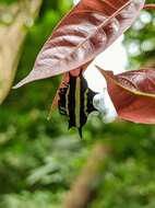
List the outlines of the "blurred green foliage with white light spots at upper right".
<svg viewBox="0 0 155 208">
<path fill-rule="evenodd" d="M 154 0 L 146 0 L 146 3 L 154 3 Z M 155 54 L 155 11 L 143 10 L 141 16 L 129 30 L 126 38 L 127 51 L 129 54 L 129 69 L 136 69 L 143 66 L 146 60 L 154 62 Z M 155 65 L 154 65 L 155 66 Z"/>
</svg>

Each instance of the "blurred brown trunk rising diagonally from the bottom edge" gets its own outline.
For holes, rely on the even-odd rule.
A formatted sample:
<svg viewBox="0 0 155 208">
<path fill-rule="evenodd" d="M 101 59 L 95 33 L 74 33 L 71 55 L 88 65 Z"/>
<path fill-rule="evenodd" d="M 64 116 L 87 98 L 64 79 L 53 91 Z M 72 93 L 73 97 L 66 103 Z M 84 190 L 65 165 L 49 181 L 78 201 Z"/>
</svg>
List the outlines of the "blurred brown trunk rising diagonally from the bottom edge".
<svg viewBox="0 0 155 208">
<path fill-rule="evenodd" d="M 100 166 L 108 153 L 109 148 L 103 143 L 94 146 L 86 165 L 67 195 L 63 208 L 86 208 L 88 206 L 99 181 Z"/>
</svg>

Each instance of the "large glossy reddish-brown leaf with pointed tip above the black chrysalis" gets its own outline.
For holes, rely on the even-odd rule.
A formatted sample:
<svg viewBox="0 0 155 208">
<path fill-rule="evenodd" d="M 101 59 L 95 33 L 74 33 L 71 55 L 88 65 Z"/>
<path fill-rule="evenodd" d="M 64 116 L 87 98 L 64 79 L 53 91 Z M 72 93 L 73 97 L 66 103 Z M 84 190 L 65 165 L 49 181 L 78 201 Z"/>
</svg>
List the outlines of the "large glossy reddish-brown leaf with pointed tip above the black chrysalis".
<svg viewBox="0 0 155 208">
<path fill-rule="evenodd" d="M 144 0 L 81 0 L 60 22 L 17 85 L 78 69 L 131 26 Z"/>
</svg>

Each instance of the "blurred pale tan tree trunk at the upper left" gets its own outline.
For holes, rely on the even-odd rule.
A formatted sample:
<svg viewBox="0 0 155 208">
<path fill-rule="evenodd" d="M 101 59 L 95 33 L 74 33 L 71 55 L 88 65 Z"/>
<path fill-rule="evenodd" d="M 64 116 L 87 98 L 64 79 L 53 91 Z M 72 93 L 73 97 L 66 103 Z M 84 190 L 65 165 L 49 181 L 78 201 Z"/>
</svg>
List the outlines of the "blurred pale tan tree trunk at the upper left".
<svg viewBox="0 0 155 208">
<path fill-rule="evenodd" d="M 16 4 L 3 8 L 0 5 L 0 104 L 12 85 L 27 32 L 26 26 L 32 25 L 40 5 L 41 0 L 17 1 Z M 12 23 L 3 22 L 2 16 L 5 13 L 12 18 Z"/>
</svg>

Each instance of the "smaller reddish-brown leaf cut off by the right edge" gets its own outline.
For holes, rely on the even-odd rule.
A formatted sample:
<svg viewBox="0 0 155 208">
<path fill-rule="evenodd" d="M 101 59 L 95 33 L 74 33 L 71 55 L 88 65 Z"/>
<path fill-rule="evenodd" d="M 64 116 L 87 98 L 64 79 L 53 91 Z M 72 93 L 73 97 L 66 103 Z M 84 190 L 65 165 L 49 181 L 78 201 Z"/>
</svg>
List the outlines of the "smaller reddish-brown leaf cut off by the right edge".
<svg viewBox="0 0 155 208">
<path fill-rule="evenodd" d="M 121 118 L 155 124 L 155 69 L 128 71 L 117 76 L 98 69 L 107 81 L 108 93 Z"/>
</svg>

